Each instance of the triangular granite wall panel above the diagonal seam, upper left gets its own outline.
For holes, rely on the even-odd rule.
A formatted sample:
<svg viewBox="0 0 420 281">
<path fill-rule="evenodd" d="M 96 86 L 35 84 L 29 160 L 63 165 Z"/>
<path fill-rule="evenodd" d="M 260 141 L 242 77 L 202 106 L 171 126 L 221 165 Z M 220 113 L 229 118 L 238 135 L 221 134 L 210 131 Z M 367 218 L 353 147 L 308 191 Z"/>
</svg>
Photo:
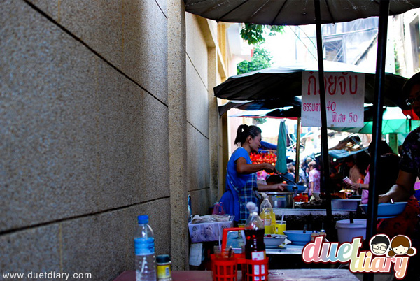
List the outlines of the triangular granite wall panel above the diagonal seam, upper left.
<svg viewBox="0 0 420 281">
<path fill-rule="evenodd" d="M 147 92 L 167 103 L 167 2 L 31 0 Z M 153 24 L 151 24 L 153 23 Z"/>
</svg>

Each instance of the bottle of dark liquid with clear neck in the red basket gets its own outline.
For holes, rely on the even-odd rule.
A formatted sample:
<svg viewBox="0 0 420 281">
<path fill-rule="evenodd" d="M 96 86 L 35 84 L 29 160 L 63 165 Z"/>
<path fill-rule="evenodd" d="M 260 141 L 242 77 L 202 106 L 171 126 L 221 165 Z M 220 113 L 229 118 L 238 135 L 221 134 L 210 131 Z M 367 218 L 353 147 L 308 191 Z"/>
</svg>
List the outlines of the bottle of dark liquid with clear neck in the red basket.
<svg viewBox="0 0 420 281">
<path fill-rule="evenodd" d="M 249 217 L 246 219 L 245 224 L 245 259 L 252 261 L 262 261 L 265 260 L 265 243 L 264 243 L 264 222 L 258 216 L 258 207 L 255 206 L 255 203 L 248 202 L 246 208 L 249 210 Z M 258 265 L 248 264 L 246 267 L 246 274 L 248 279 L 246 281 L 256 281 L 253 280 L 251 274 L 255 273 L 264 273 L 268 271 L 268 268 L 262 266 L 261 272 Z M 249 274 L 251 273 L 251 274 Z M 249 274 L 249 275 L 248 275 Z M 266 280 L 265 277 L 258 280 Z"/>
</svg>

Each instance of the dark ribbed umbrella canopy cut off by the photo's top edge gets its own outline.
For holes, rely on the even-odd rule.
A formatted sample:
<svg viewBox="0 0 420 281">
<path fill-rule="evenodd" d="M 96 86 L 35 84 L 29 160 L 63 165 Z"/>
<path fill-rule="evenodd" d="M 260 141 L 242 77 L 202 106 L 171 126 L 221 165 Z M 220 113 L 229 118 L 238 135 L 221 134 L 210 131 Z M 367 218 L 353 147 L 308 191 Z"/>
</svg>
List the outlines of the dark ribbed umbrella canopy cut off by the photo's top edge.
<svg viewBox="0 0 420 281">
<path fill-rule="evenodd" d="M 308 0 L 184 0 L 186 11 L 218 22 L 270 25 L 315 24 L 313 1 Z M 419 0 L 393 0 L 389 15 L 420 6 Z M 321 23 L 349 22 L 379 15 L 379 1 L 325 0 L 320 3 Z"/>
</svg>

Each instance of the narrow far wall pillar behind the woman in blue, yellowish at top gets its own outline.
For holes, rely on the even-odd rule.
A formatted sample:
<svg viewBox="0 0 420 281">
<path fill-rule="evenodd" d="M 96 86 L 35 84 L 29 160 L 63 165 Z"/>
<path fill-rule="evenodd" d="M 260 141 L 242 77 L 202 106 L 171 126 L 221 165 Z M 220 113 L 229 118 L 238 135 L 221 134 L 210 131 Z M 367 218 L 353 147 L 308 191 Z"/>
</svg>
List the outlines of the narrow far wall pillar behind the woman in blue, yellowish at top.
<svg viewBox="0 0 420 281">
<path fill-rule="evenodd" d="M 217 98 L 213 88 L 217 80 L 217 52 L 216 48 L 207 48 L 208 53 L 208 93 L 209 93 L 209 166 L 210 166 L 210 201 L 220 199 L 218 194 L 218 108 Z"/>
</svg>

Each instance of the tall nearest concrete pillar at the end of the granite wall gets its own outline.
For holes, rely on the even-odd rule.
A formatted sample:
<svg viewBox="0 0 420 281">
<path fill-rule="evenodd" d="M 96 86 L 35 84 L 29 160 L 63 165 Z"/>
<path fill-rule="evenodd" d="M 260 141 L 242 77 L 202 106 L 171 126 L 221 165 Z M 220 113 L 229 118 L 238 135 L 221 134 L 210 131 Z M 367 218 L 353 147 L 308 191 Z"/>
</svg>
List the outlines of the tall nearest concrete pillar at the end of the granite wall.
<svg viewBox="0 0 420 281">
<path fill-rule="evenodd" d="M 167 6 L 171 259 L 179 271 L 188 269 L 186 13 L 181 0 Z"/>
</svg>

